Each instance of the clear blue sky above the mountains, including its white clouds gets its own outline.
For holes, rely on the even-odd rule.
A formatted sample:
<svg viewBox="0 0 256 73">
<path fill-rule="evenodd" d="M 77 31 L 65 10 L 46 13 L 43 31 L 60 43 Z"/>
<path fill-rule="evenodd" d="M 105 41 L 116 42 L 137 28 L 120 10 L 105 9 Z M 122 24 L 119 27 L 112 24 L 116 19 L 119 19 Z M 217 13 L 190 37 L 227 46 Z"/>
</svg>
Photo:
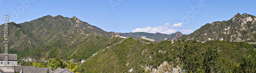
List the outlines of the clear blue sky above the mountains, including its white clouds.
<svg viewBox="0 0 256 73">
<path fill-rule="evenodd" d="M 0 19 L 4 23 L 4 16 L 8 15 L 9 22 L 23 23 L 46 15 L 76 16 L 108 32 L 190 34 L 206 23 L 229 20 L 237 13 L 256 15 L 255 3 L 252 0 L 0 0 L 0 16 L 3 16 Z"/>
</svg>

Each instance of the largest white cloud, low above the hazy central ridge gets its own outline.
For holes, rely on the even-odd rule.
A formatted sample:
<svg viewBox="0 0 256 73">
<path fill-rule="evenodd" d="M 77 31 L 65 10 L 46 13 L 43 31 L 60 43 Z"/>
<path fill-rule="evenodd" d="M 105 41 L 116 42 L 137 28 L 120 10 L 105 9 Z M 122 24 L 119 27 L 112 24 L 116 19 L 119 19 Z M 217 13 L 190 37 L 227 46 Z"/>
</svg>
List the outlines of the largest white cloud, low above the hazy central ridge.
<svg viewBox="0 0 256 73">
<path fill-rule="evenodd" d="M 179 24 L 179 23 L 178 23 Z M 172 34 L 175 33 L 176 30 L 169 29 L 169 23 L 165 23 L 165 25 L 161 27 L 145 27 L 145 28 L 137 28 L 133 30 L 133 32 L 147 32 L 147 33 L 163 33 L 163 34 Z"/>
</svg>

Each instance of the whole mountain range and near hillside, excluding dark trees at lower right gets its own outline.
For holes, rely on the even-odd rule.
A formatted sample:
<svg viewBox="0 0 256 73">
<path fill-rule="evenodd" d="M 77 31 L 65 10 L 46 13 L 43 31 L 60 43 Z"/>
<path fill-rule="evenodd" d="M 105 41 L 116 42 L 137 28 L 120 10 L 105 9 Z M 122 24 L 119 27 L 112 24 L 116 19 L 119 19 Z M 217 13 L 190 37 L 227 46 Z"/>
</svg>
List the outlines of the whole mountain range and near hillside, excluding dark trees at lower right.
<svg viewBox="0 0 256 73">
<path fill-rule="evenodd" d="M 251 51 L 251 48 L 255 45 L 228 41 L 255 42 L 255 22 L 255 16 L 246 13 L 241 15 L 238 13 L 227 21 L 206 23 L 206 25 L 188 35 L 182 34 L 181 32 L 173 34 L 145 32 L 119 33 L 121 36 L 134 37 L 133 39 L 127 38 L 124 40 L 120 37 L 112 37 L 115 32 L 106 32 L 87 22 L 81 21 L 75 16 L 68 18 L 61 15 L 55 17 L 47 15 L 24 23 L 9 22 L 9 53 L 16 53 L 18 60 L 23 61 L 47 62 L 49 59 L 56 57 L 64 60 L 87 60 L 87 63 L 84 63 L 78 68 L 80 72 L 84 72 L 86 69 L 90 69 L 88 72 L 102 72 L 100 69 L 105 69 L 103 72 L 124 72 L 123 70 L 133 69 L 136 69 L 135 72 L 140 72 L 142 69 L 156 70 L 158 67 L 162 68 L 160 65 L 164 61 L 168 61 L 164 63 L 164 65 L 167 65 L 166 67 L 171 67 L 170 65 L 175 64 L 174 61 L 177 61 L 178 56 L 176 52 L 179 52 L 178 50 L 181 48 L 185 48 L 186 44 L 182 44 L 182 42 L 189 43 L 191 47 L 200 48 L 202 53 L 205 52 L 204 48 L 206 46 L 211 46 L 212 43 L 215 43 L 214 45 L 221 47 L 220 49 L 223 51 L 221 53 L 222 61 L 232 61 L 230 62 L 232 64 L 225 64 L 224 66 L 234 66 L 233 63 L 243 58 L 243 54 L 253 54 L 248 51 Z M 4 25 L 0 27 L 4 27 Z M 0 34 L 3 34 L 3 30 L 1 28 Z M 155 39 L 157 42 L 151 44 L 141 43 L 137 39 L 141 36 Z M 164 41 L 171 40 L 172 38 L 189 38 L 199 41 L 223 38 L 227 41 L 209 41 L 206 43 L 199 43 L 193 40 Z M 121 40 L 123 41 L 122 43 L 116 44 Z M 0 44 L 4 45 L 3 41 L 4 38 L 0 35 Z M 230 48 L 217 44 L 223 46 L 230 44 Z M 241 50 L 238 49 L 242 44 L 246 46 L 243 46 Z M 228 50 L 232 50 L 232 54 Z M 100 53 L 94 56 L 98 52 Z M 1 46 L 0 53 L 4 53 L 4 46 Z M 232 56 L 234 54 L 236 56 Z M 108 68 L 111 69 L 108 71 Z M 228 68 L 230 69 L 232 67 Z M 157 70 L 161 70 L 160 72 L 162 72 L 163 70 L 169 69 L 163 68 Z"/>
</svg>

